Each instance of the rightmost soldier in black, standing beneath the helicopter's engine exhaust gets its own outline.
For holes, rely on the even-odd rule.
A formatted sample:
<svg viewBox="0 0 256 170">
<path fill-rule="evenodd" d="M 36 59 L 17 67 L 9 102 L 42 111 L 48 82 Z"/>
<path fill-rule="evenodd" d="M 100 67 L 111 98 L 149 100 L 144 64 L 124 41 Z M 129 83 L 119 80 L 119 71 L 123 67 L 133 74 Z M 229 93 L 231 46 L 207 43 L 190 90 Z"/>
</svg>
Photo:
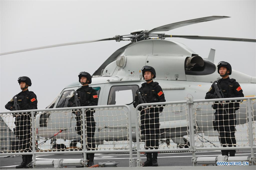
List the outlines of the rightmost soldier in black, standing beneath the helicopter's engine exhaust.
<svg viewBox="0 0 256 170">
<path fill-rule="evenodd" d="M 218 73 L 222 77 L 217 80 L 224 94 L 224 98 L 244 97 L 243 90 L 235 79 L 229 78 L 232 73 L 231 65 L 228 62 L 221 61 L 218 64 Z M 212 85 L 210 90 L 206 93 L 205 99 L 219 98 Z M 213 121 L 214 128 L 219 132 L 220 144 L 223 147 L 236 147 L 236 110 L 239 109 L 239 101 L 222 101 L 219 104 L 213 104 L 212 108 L 215 109 L 215 120 Z M 218 103 L 218 102 L 215 102 Z M 223 104 L 222 104 L 223 103 Z M 236 150 L 221 150 L 222 155 L 235 156 Z"/>
</svg>

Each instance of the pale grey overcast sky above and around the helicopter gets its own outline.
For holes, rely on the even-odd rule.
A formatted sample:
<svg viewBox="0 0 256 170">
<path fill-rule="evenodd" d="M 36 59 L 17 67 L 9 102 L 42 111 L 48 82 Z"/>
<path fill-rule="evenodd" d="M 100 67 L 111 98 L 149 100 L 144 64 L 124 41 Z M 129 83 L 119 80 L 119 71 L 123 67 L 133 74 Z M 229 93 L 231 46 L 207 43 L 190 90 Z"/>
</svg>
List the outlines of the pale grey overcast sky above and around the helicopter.
<svg viewBox="0 0 256 170">
<path fill-rule="evenodd" d="M 110 38 L 136 29 L 213 15 L 231 18 L 184 26 L 166 34 L 256 39 L 256 1 L 3 1 L 0 52 L 52 44 Z M 173 38 L 203 58 L 216 49 L 215 63 L 256 76 L 256 43 Z M 0 111 L 20 92 L 17 79 L 28 76 L 38 108 L 47 107 L 78 73 L 93 73 L 128 41 L 102 41 L 0 56 Z M 164 62 L 164 61 L 163 61 Z M 232 76 L 231 76 L 232 77 Z"/>
</svg>

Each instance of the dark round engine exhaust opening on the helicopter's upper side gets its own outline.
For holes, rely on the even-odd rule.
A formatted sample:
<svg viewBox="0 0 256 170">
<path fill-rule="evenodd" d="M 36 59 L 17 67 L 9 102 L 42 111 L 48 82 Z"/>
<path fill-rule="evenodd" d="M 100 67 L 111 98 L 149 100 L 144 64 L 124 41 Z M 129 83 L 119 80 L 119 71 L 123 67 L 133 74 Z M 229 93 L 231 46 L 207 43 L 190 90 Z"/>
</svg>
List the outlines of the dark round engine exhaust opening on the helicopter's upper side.
<svg viewBox="0 0 256 170">
<path fill-rule="evenodd" d="M 185 74 L 186 75 L 208 75 L 216 70 L 215 64 L 204 60 L 202 57 L 196 55 L 187 57 L 185 60 Z"/>
</svg>

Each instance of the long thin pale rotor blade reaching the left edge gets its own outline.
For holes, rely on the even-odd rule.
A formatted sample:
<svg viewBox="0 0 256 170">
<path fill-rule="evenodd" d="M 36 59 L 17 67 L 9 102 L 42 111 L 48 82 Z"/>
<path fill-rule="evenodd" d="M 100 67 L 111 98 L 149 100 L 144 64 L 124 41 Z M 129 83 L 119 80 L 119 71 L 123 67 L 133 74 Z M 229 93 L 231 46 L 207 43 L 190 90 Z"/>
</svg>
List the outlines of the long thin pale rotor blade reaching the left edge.
<svg viewBox="0 0 256 170">
<path fill-rule="evenodd" d="M 43 47 L 27 48 L 27 49 L 22 49 L 22 50 L 17 50 L 17 51 L 10 51 L 10 52 L 6 52 L 6 53 L 0 53 L 0 55 L 21 53 L 21 52 L 26 52 L 26 51 L 34 51 L 34 50 L 45 49 L 45 48 L 69 46 L 69 45 L 75 45 L 75 44 L 85 44 L 85 43 L 91 43 L 91 42 L 97 42 L 97 41 L 118 40 L 118 39 L 119 39 L 119 37 L 116 36 L 113 38 L 105 38 L 105 39 L 100 39 L 100 40 L 68 42 L 68 43 L 55 44 L 55 45 L 49 45 L 49 46 L 43 46 Z"/>
</svg>

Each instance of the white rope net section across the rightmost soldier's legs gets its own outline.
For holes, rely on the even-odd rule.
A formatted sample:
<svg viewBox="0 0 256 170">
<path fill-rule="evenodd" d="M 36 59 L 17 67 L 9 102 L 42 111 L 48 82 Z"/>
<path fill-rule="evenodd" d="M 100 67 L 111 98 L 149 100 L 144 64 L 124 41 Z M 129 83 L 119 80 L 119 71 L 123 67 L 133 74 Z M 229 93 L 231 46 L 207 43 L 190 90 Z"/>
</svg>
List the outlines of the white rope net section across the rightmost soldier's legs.
<svg viewBox="0 0 256 170">
<path fill-rule="evenodd" d="M 246 100 L 239 104 L 237 102 L 194 103 L 196 147 L 250 146 L 248 114 L 252 113 L 248 113 Z M 253 105 L 251 108 L 255 109 Z M 252 122 L 255 144 L 255 121 L 252 119 Z"/>
</svg>

